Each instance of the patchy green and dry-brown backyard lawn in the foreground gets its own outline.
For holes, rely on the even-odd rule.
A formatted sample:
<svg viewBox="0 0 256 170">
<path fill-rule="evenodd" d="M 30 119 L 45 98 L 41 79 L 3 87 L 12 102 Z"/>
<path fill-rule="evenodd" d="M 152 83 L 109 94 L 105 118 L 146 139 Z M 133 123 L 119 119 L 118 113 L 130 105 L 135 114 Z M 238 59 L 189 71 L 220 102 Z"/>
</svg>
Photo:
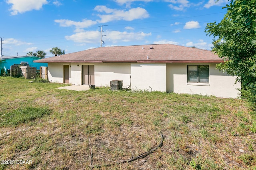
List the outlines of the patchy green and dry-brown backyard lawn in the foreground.
<svg viewBox="0 0 256 170">
<path fill-rule="evenodd" d="M 145 158 L 93 169 L 256 170 L 256 112 L 242 100 L 29 81 L 0 77 L 0 160 L 15 161 L 0 170 L 89 170 L 91 159 L 147 152 L 161 134 Z"/>
</svg>

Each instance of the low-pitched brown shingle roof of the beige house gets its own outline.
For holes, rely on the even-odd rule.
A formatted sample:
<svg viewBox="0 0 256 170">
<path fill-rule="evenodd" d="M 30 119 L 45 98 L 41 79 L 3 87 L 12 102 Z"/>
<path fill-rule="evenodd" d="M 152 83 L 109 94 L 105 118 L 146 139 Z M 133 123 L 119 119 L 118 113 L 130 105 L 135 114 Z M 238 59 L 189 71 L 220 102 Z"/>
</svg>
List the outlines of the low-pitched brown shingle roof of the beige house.
<svg viewBox="0 0 256 170">
<path fill-rule="evenodd" d="M 152 47 L 152 48 L 151 48 Z M 147 57 L 149 59 L 147 59 Z M 211 51 L 171 44 L 102 47 L 36 60 L 36 63 L 220 63 Z"/>
</svg>

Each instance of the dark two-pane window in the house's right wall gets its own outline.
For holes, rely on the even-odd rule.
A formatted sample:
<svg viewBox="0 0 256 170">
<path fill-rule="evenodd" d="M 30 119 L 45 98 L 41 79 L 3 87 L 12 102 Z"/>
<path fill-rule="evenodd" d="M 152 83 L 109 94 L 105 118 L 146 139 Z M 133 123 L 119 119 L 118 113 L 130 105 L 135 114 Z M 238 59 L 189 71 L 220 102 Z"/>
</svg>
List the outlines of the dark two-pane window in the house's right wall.
<svg viewBox="0 0 256 170">
<path fill-rule="evenodd" d="M 188 65 L 187 82 L 209 83 L 209 65 Z"/>
</svg>

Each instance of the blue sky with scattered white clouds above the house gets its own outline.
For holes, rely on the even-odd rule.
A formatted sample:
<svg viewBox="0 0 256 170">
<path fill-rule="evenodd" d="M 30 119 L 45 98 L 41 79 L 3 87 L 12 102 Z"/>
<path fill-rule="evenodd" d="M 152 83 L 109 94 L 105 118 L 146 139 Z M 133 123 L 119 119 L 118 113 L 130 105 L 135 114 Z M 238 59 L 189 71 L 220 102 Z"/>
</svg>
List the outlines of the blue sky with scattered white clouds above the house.
<svg viewBox="0 0 256 170">
<path fill-rule="evenodd" d="M 206 24 L 223 19 L 228 0 L 2 0 L 2 55 L 59 47 L 66 53 L 100 47 L 170 43 L 211 50 Z"/>
</svg>

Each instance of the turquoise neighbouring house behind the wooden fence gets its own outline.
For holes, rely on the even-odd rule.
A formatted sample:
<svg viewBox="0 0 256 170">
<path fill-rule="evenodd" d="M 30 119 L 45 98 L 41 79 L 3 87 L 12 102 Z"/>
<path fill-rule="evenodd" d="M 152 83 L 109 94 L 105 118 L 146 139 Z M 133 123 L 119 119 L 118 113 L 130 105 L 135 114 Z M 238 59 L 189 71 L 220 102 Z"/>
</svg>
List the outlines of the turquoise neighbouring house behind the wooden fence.
<svg viewBox="0 0 256 170">
<path fill-rule="evenodd" d="M 25 64 L 30 67 L 36 67 L 37 70 L 40 69 L 40 66 L 48 66 L 47 63 L 34 63 L 35 60 L 42 59 L 37 56 L 2 56 L 0 57 L 3 67 L 6 69 L 11 69 L 11 66 L 14 64 Z"/>
</svg>

